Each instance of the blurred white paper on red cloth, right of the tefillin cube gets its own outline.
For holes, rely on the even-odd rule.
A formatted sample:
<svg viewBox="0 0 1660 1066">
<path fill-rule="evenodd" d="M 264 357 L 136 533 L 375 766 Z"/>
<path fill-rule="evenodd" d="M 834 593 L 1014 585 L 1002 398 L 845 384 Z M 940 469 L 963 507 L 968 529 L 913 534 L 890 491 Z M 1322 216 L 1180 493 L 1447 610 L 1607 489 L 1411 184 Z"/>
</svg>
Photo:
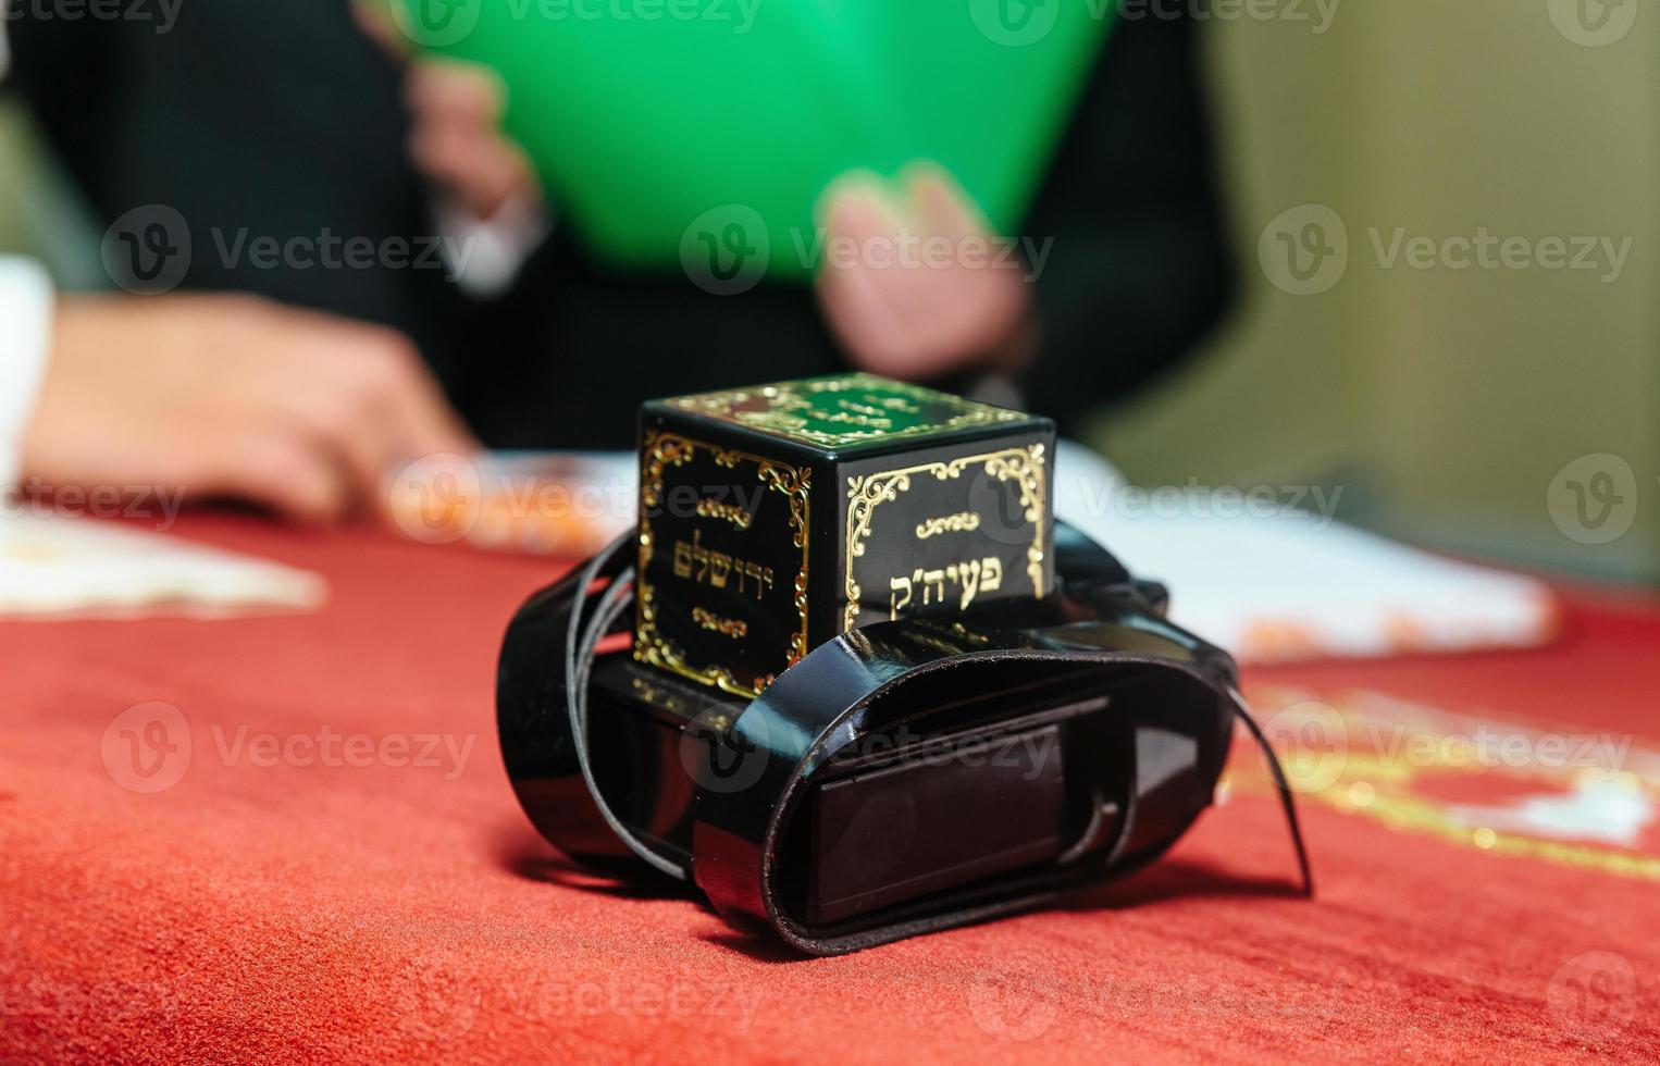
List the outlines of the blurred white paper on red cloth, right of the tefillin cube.
<svg viewBox="0 0 1660 1066">
<path fill-rule="evenodd" d="M 1444 560 L 1321 515 L 1275 508 L 1252 516 L 1202 495 L 1172 505 L 1174 491 L 1155 506 L 1122 488 L 1109 463 L 1062 442 L 1057 516 L 1137 576 L 1167 583 L 1170 619 L 1242 661 L 1532 646 L 1552 636 L 1555 601 L 1537 579 Z"/>
</svg>

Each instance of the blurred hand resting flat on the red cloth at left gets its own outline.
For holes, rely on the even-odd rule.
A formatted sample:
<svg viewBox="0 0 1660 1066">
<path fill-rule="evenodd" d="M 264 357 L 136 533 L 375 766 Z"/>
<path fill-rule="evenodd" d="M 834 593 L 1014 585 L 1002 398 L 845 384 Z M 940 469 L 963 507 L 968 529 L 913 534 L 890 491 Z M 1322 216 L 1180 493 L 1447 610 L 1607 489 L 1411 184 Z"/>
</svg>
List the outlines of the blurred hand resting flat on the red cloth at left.
<svg viewBox="0 0 1660 1066">
<path fill-rule="evenodd" d="M 237 496 L 327 521 L 476 448 L 393 330 L 249 296 L 63 297 L 25 482 Z"/>
</svg>

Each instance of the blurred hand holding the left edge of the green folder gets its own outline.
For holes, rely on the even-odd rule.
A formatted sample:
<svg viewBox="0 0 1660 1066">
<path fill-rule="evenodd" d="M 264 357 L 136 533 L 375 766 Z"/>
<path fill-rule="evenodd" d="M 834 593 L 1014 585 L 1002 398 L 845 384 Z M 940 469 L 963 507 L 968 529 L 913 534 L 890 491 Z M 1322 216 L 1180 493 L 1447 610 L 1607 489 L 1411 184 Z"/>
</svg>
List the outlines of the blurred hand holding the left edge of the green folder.
<svg viewBox="0 0 1660 1066">
<path fill-rule="evenodd" d="M 372 40 L 405 63 L 415 168 L 480 219 L 510 201 L 540 203 L 530 158 L 501 131 L 508 101 L 501 78 L 488 66 L 412 51 L 383 7 L 357 0 L 352 12 Z"/>
</svg>

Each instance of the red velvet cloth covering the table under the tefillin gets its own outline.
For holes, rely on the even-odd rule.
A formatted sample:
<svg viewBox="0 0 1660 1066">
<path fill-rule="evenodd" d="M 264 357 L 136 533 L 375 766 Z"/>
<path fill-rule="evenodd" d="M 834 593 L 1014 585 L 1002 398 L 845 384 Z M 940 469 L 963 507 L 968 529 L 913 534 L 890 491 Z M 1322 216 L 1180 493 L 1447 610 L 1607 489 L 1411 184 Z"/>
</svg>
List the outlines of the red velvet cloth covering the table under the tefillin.
<svg viewBox="0 0 1660 1066">
<path fill-rule="evenodd" d="M 251 518 L 179 531 L 317 570 L 332 601 L 0 624 L 0 1059 L 1660 1056 L 1648 867 L 1305 797 L 1303 902 L 1243 747 L 1228 802 L 1124 883 L 847 958 L 774 951 L 588 877 L 518 812 L 495 654 L 558 565 Z M 1570 598 L 1565 621 L 1545 651 L 1248 681 L 1258 701 L 1365 692 L 1660 747 L 1660 606 Z M 153 709 L 118 719 L 149 701 L 178 709 L 171 732 L 139 727 Z M 1459 780 L 1504 794 L 1504 774 Z M 1650 825 L 1622 853 L 1657 852 Z"/>
</svg>

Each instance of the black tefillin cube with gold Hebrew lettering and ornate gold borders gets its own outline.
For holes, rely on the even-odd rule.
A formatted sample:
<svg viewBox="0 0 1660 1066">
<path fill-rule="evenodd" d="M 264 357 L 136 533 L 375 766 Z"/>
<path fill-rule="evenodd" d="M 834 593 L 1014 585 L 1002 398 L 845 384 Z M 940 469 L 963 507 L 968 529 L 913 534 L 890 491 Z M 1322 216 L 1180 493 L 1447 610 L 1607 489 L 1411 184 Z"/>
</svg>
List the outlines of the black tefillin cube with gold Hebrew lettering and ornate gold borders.
<svg viewBox="0 0 1660 1066">
<path fill-rule="evenodd" d="M 1054 425 L 868 374 L 647 403 L 634 658 L 752 697 L 823 641 L 1051 591 Z"/>
</svg>

